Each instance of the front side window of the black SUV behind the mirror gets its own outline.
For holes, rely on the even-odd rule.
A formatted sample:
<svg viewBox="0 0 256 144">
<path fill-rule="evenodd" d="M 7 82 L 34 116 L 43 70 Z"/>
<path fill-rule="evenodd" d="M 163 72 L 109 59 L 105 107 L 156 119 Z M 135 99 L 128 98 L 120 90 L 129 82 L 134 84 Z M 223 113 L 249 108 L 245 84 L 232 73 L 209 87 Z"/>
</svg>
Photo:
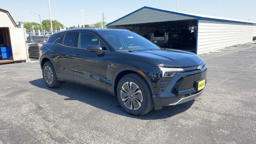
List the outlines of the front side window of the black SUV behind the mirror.
<svg viewBox="0 0 256 144">
<path fill-rule="evenodd" d="M 78 40 L 78 48 L 87 48 L 90 45 L 99 45 L 102 50 L 106 50 L 104 43 L 94 34 L 90 32 L 80 32 L 80 38 Z"/>
</svg>

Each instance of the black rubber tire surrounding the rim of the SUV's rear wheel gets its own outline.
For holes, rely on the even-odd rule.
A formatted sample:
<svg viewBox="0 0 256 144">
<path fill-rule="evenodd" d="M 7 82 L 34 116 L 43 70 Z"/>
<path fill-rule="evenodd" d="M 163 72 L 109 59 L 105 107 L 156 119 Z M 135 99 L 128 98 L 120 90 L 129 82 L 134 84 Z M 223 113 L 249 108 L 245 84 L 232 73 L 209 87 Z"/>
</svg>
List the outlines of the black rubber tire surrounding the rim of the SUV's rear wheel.
<svg viewBox="0 0 256 144">
<path fill-rule="evenodd" d="M 52 82 L 51 83 L 49 82 L 50 84 L 48 82 L 46 82 L 46 78 L 45 78 L 46 66 L 48 66 L 50 68 L 50 70 L 52 70 Z M 48 86 L 49 88 L 57 88 L 58 86 L 60 86 L 60 81 L 58 81 L 56 72 L 54 70 L 54 66 L 52 65 L 52 63 L 50 61 L 44 63 L 44 66 L 42 68 L 42 74 L 43 74 L 43 80 L 44 80 L 44 83 L 46 84 L 46 86 Z"/>
</svg>

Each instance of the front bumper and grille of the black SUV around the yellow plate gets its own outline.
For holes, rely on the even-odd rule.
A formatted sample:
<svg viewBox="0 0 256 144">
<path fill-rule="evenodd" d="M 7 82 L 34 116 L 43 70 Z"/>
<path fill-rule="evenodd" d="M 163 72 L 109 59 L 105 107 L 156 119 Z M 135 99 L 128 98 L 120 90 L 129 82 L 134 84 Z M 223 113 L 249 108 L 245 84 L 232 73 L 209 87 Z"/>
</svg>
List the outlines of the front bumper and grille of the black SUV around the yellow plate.
<svg viewBox="0 0 256 144">
<path fill-rule="evenodd" d="M 204 91 L 197 91 L 196 81 L 206 79 L 207 68 L 176 74 L 168 86 L 158 95 L 153 95 L 155 106 L 172 106 L 182 104 L 200 96 Z M 205 84 L 206 86 L 206 84 Z"/>
</svg>

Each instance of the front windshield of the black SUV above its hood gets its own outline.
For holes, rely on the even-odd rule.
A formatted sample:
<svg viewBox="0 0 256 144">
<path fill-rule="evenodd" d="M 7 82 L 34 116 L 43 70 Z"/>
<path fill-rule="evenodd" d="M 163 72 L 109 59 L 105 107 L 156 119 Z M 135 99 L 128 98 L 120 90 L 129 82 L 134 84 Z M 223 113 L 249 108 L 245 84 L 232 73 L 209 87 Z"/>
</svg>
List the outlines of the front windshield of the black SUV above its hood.
<svg viewBox="0 0 256 144">
<path fill-rule="evenodd" d="M 131 50 L 144 51 L 160 49 L 158 46 L 146 38 L 129 31 L 105 31 L 100 34 L 115 48 L 117 51 Z"/>
</svg>

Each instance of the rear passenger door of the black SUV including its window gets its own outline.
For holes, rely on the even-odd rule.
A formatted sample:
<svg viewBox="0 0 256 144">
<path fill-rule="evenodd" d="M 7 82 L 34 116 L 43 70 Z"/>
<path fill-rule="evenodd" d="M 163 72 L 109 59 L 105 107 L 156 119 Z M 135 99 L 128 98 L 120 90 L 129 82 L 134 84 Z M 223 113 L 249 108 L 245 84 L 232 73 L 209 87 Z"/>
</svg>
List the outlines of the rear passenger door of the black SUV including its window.
<svg viewBox="0 0 256 144">
<path fill-rule="evenodd" d="M 57 70 L 57 77 L 66 82 L 74 82 L 73 50 L 77 47 L 79 32 L 67 32 L 52 48 L 53 58 Z"/>
</svg>

